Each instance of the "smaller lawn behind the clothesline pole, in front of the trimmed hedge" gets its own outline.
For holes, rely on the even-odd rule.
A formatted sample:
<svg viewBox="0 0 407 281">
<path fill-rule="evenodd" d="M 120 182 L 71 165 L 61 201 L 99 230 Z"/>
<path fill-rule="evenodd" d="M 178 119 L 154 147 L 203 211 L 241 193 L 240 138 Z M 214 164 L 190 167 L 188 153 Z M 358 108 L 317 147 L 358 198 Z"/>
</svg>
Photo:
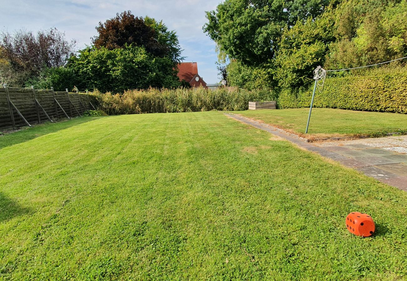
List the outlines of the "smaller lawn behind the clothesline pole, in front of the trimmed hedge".
<svg viewBox="0 0 407 281">
<path fill-rule="evenodd" d="M 296 134 L 305 135 L 309 108 L 234 111 Z M 369 135 L 407 131 L 407 114 L 313 108 L 309 137 Z"/>
</svg>

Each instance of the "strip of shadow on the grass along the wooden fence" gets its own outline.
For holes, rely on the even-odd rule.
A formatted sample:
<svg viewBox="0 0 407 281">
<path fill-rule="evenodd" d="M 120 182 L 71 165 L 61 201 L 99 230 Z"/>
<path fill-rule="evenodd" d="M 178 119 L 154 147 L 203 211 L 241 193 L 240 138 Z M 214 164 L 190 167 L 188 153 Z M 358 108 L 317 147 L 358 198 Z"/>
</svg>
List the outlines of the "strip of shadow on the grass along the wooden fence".
<svg viewBox="0 0 407 281">
<path fill-rule="evenodd" d="M 95 120 L 96 118 L 101 117 L 79 117 L 74 119 L 63 119 L 55 123 L 46 122 L 42 124 L 35 124 L 33 128 L 23 127 L 19 131 L 0 135 L 0 149 L 18 143 L 24 143 L 26 141 L 32 140 L 33 138 L 54 133 L 59 130 L 70 128 L 85 122 L 89 122 Z"/>
</svg>

